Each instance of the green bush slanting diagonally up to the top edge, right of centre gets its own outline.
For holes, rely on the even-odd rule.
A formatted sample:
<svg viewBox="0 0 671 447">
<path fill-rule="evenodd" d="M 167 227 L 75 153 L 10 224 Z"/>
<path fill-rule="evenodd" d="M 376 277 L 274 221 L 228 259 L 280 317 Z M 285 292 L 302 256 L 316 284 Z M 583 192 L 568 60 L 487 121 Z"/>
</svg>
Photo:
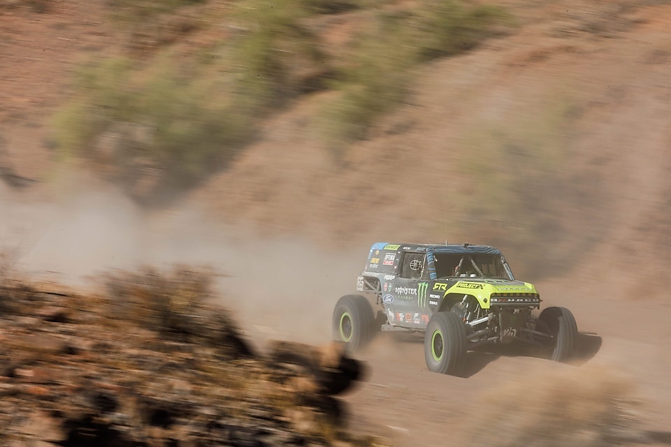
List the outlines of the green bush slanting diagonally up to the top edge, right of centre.
<svg viewBox="0 0 671 447">
<path fill-rule="evenodd" d="M 381 115 L 403 102 L 412 69 L 422 61 L 470 50 L 496 26 L 510 23 L 503 8 L 452 0 L 380 10 L 335 71 L 332 88 L 338 95 L 326 102 L 319 119 L 329 147 L 340 157 L 343 147 L 366 138 Z"/>
</svg>

